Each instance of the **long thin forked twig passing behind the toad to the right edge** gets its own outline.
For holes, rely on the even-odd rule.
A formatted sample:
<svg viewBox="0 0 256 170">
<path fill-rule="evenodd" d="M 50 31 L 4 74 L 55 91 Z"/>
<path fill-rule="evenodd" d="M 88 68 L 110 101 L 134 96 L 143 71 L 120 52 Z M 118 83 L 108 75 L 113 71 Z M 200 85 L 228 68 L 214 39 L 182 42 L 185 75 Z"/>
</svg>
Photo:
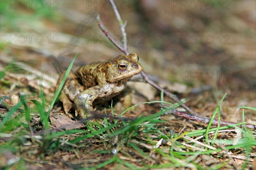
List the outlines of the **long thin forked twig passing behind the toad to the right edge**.
<svg viewBox="0 0 256 170">
<path fill-rule="evenodd" d="M 126 37 L 126 33 L 125 33 L 125 25 L 122 22 L 122 19 L 120 17 L 120 14 L 115 6 L 115 4 L 113 3 L 113 0 L 110 0 L 112 6 L 113 6 L 113 10 L 116 14 L 116 18 L 119 22 L 119 26 L 121 28 L 122 31 L 122 35 L 124 37 Z M 123 52 L 125 55 L 128 55 L 128 49 L 127 49 L 127 43 L 123 43 L 124 47 L 122 47 L 119 43 L 117 43 L 114 38 L 109 34 L 108 30 L 106 29 L 106 27 L 104 26 L 104 24 L 102 23 L 102 21 L 100 20 L 99 15 L 97 16 L 97 21 L 98 21 L 98 25 L 99 28 L 102 30 L 102 32 L 108 37 L 108 39 L 121 51 Z M 177 98 L 176 95 L 172 94 L 171 92 L 168 92 L 166 89 L 163 89 L 161 86 L 159 86 L 158 84 L 156 84 L 154 81 L 152 81 L 148 75 L 142 71 L 140 72 L 140 74 L 143 76 L 144 80 L 150 84 L 151 86 L 153 86 L 154 88 L 156 88 L 159 91 L 163 91 L 164 94 L 166 94 L 167 96 L 169 96 L 170 98 L 172 98 L 173 101 L 179 103 L 184 109 L 186 109 L 187 112 L 189 112 L 190 114 L 186 114 L 183 112 L 175 112 L 175 114 L 177 114 L 178 116 L 184 117 L 184 118 L 188 118 L 189 120 L 194 120 L 194 121 L 200 121 L 204 124 L 207 124 L 210 120 L 210 118 L 204 116 L 204 115 L 200 115 L 197 112 L 193 111 L 192 109 L 190 109 L 189 107 L 186 106 L 186 104 L 184 104 L 182 101 L 180 101 L 179 98 Z M 179 114 L 178 114 L 179 113 Z M 182 113 L 182 114 L 180 114 Z M 237 124 L 234 122 L 227 122 L 227 121 L 221 121 L 220 122 L 221 126 L 226 126 L 227 124 Z M 214 120 L 212 125 L 218 125 L 218 120 Z M 253 124 L 245 124 L 246 127 L 248 128 L 253 128 L 256 129 L 256 126 L 254 126 Z"/>
</svg>

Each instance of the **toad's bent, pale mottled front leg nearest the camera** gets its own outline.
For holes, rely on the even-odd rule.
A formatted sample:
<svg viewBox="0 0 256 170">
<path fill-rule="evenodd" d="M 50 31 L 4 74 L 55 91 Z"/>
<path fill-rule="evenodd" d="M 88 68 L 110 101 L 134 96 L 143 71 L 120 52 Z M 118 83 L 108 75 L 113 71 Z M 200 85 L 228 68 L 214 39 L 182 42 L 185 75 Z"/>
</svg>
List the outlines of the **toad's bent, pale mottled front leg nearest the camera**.
<svg viewBox="0 0 256 170">
<path fill-rule="evenodd" d="M 113 91 L 115 91 L 115 89 L 116 88 L 111 84 L 104 84 L 91 87 L 76 95 L 74 103 L 80 118 L 93 116 L 93 101 L 96 99 L 108 99 L 108 96 L 113 95 Z"/>
</svg>

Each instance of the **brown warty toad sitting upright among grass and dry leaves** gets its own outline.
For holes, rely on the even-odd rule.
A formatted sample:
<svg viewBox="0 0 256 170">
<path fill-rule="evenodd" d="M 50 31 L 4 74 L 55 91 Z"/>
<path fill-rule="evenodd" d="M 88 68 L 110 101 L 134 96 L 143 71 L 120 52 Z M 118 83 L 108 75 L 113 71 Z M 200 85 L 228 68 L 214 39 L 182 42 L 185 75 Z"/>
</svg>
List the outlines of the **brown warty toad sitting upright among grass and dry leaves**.
<svg viewBox="0 0 256 170">
<path fill-rule="evenodd" d="M 111 100 L 126 88 L 126 82 L 143 71 L 135 53 L 119 55 L 108 61 L 81 66 L 70 72 L 61 90 L 60 100 L 66 114 L 75 104 L 76 116 L 93 116 L 93 105 Z M 58 80 L 57 87 L 64 74 Z"/>
</svg>

